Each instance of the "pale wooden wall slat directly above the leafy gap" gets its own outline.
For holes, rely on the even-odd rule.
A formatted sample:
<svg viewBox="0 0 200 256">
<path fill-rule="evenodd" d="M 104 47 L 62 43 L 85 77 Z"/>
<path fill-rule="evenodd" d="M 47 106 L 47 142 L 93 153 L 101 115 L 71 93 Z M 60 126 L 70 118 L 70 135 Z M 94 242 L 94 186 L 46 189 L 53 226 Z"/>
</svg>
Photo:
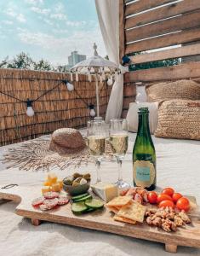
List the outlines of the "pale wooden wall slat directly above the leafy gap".
<svg viewBox="0 0 200 256">
<path fill-rule="evenodd" d="M 140 64 L 150 61 L 162 61 L 184 56 L 198 55 L 200 53 L 200 44 L 191 44 L 174 49 L 165 49 L 157 52 L 146 53 L 143 55 L 131 56 L 134 64 Z"/>
</svg>

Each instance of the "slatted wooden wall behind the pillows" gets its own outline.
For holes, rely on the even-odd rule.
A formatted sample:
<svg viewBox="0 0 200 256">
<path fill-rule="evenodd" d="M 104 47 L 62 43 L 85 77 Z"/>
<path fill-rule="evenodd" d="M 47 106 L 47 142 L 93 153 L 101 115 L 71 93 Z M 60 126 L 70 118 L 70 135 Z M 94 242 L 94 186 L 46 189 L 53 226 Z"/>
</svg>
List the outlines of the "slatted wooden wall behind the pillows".
<svg viewBox="0 0 200 256">
<path fill-rule="evenodd" d="M 123 3 L 122 3 L 123 2 Z M 121 57 L 131 54 L 134 64 L 162 61 L 200 54 L 200 1 L 197 0 L 120 0 Z M 124 24 L 122 24 L 124 20 Z M 121 42 L 121 41 L 120 41 Z M 173 46 L 172 48 L 168 48 Z M 167 49 L 165 49 L 167 47 Z M 154 51 L 156 49 L 156 51 Z M 142 52 L 140 55 L 133 53 Z M 192 58 L 191 58 L 192 60 Z M 123 116 L 132 96 L 127 96 L 135 82 L 145 84 L 162 80 L 200 77 L 200 62 L 176 67 L 159 67 L 126 73 L 124 76 Z M 127 85 L 129 84 L 129 86 Z"/>
</svg>

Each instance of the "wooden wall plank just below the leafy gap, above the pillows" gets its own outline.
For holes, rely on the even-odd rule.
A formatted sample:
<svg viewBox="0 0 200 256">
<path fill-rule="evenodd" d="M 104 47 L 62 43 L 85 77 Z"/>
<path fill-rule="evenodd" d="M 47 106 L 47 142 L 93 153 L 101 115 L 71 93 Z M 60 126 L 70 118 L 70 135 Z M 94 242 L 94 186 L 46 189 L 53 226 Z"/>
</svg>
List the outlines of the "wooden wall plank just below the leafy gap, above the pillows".
<svg viewBox="0 0 200 256">
<path fill-rule="evenodd" d="M 124 83 L 151 82 L 200 77 L 200 61 L 180 64 L 173 67 L 157 67 L 125 73 Z"/>
</svg>

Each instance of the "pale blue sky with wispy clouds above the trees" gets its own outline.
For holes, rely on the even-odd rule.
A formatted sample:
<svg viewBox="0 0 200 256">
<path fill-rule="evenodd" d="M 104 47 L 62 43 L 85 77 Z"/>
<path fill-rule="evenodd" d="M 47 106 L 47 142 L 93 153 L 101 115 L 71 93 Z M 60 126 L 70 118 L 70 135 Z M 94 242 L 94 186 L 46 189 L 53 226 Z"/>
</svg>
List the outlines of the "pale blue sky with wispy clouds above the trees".
<svg viewBox="0 0 200 256">
<path fill-rule="evenodd" d="M 24 51 L 66 65 L 67 56 L 106 55 L 94 0 L 0 0 L 0 61 Z"/>
</svg>

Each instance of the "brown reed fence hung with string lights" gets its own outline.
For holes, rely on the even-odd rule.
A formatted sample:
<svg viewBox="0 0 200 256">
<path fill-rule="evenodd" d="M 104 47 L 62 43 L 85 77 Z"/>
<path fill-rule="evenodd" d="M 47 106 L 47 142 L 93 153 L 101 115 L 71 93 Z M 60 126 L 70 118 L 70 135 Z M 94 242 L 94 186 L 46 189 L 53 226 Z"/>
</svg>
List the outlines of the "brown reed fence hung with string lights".
<svg viewBox="0 0 200 256">
<path fill-rule="evenodd" d="M 87 104 L 95 104 L 95 83 L 86 76 L 73 82 L 75 90 L 68 91 L 62 80 L 70 79 L 67 73 L 37 72 L 17 69 L 0 69 L 0 145 L 16 143 L 60 127 L 81 127 L 89 117 Z M 54 88 L 52 91 L 52 88 Z M 49 91 L 49 92 L 47 92 Z M 44 96 L 42 96 L 47 92 Z M 100 115 L 105 116 L 110 89 L 100 84 Z M 10 96 L 14 96 L 20 102 Z M 26 100 L 32 103 L 33 117 L 26 115 Z"/>
</svg>

